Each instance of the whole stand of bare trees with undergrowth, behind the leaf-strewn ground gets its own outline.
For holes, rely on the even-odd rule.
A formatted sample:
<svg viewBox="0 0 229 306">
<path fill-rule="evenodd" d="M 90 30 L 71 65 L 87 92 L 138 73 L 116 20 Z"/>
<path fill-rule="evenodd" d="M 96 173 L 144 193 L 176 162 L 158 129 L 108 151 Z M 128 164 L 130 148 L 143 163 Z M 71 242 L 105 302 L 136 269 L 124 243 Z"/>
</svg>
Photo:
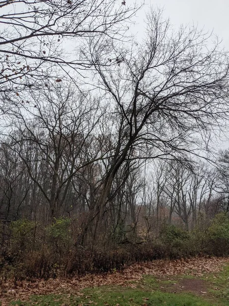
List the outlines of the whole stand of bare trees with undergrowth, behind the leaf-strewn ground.
<svg viewBox="0 0 229 306">
<path fill-rule="evenodd" d="M 0 0 L 0 275 L 229 254 L 229 56 L 129 0 Z"/>
</svg>

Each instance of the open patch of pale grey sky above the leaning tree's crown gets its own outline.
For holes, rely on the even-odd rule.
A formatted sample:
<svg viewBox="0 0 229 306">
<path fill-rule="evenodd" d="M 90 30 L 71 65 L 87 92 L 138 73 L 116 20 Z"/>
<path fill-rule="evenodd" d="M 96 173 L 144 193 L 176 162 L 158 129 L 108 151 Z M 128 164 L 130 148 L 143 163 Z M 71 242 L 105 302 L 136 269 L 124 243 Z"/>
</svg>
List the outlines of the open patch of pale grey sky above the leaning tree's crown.
<svg viewBox="0 0 229 306">
<path fill-rule="evenodd" d="M 145 3 L 146 11 L 150 5 L 163 8 L 164 17 L 169 17 L 175 26 L 194 23 L 213 30 L 229 50 L 229 0 L 145 0 Z M 138 16 L 143 19 L 144 12 L 138 12 Z"/>
</svg>

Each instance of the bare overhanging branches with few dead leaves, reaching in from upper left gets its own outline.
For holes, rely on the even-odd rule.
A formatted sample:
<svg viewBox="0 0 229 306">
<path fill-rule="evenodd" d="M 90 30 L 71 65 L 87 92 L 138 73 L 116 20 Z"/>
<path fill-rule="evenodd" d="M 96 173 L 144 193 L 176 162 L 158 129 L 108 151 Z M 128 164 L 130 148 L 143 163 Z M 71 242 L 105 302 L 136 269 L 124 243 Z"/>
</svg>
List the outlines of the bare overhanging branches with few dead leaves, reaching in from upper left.
<svg viewBox="0 0 229 306">
<path fill-rule="evenodd" d="M 72 56 L 74 48 L 93 36 L 120 39 L 137 8 L 112 0 L 2 0 L 0 10 L 0 94 L 7 104 L 24 88 L 89 68 Z"/>
</svg>

